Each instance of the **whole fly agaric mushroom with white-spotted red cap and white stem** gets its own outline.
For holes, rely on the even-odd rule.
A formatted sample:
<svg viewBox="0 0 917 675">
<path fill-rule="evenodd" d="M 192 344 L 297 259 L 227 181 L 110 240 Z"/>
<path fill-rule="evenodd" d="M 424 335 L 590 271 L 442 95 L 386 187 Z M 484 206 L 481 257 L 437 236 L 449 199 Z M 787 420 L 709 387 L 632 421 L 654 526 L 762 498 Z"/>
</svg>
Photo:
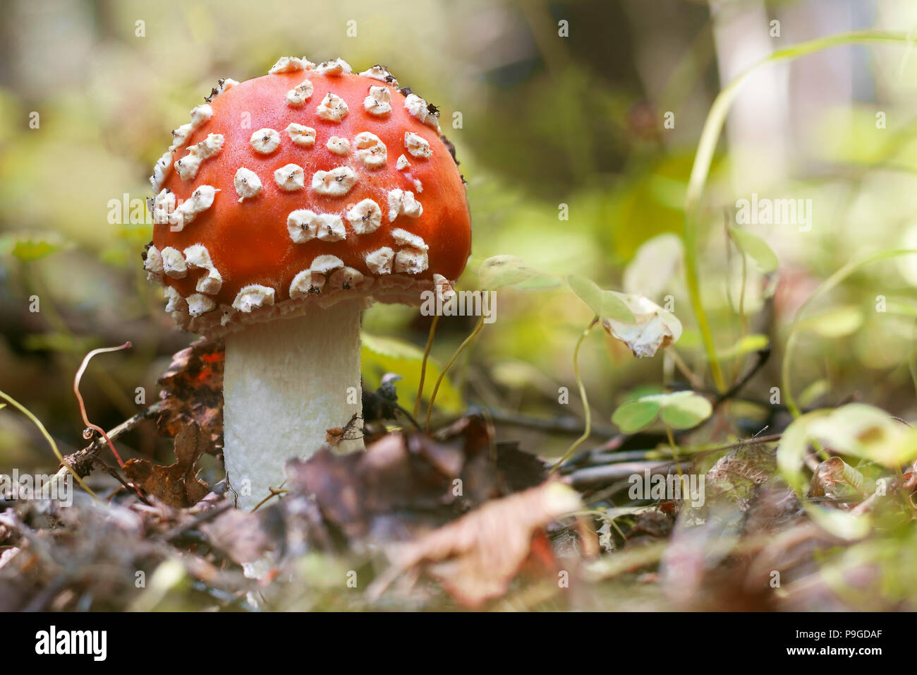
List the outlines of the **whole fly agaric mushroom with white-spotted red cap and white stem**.
<svg viewBox="0 0 917 675">
<path fill-rule="evenodd" d="M 224 457 L 237 505 L 361 411 L 359 314 L 448 293 L 470 253 L 436 108 L 381 66 L 284 57 L 221 80 L 156 163 L 144 260 L 188 331 L 224 337 Z"/>
</svg>

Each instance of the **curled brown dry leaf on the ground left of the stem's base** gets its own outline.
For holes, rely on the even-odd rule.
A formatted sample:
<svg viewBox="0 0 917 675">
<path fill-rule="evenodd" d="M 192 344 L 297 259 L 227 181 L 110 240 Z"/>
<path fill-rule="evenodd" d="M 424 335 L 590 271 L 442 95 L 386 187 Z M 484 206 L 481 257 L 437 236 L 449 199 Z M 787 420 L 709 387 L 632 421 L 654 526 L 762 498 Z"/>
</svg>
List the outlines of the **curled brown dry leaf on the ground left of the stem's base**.
<svg viewBox="0 0 917 675">
<path fill-rule="evenodd" d="M 204 499 L 210 488 L 197 478 L 195 465 L 209 447 L 209 434 L 193 422 L 175 436 L 175 464 L 162 467 L 147 459 L 129 459 L 124 466 L 127 478 L 147 494 L 178 508 L 193 506 Z"/>
</svg>

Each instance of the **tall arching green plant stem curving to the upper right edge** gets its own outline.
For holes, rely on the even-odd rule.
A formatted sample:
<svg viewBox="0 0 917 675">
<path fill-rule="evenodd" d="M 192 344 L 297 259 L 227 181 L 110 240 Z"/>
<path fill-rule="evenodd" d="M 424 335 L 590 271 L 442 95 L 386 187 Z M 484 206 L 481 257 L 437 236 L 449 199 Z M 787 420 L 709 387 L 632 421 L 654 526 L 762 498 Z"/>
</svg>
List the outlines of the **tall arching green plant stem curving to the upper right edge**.
<svg viewBox="0 0 917 675">
<path fill-rule="evenodd" d="M 729 108 L 732 106 L 735 96 L 738 95 L 739 90 L 742 85 L 746 83 L 749 76 L 755 73 L 758 68 L 768 63 L 791 61 L 816 51 L 849 44 L 889 43 L 910 44 L 911 40 L 904 33 L 855 30 L 801 42 L 800 44 L 792 45 L 786 49 L 775 51 L 762 61 L 748 68 L 744 73 L 736 77 L 735 80 L 727 84 L 713 101 L 713 106 L 710 108 L 710 112 L 703 125 L 701 141 L 698 143 L 697 153 L 694 157 L 694 165 L 691 167 L 691 177 L 688 180 L 688 188 L 685 195 L 685 227 L 683 238 L 685 247 L 685 281 L 688 287 L 688 293 L 691 297 L 691 310 L 694 312 L 695 319 L 698 323 L 698 329 L 701 332 L 704 350 L 710 361 L 710 371 L 713 376 L 713 382 L 720 391 L 726 389 L 726 383 L 719 359 L 716 356 L 716 347 L 713 343 L 713 332 L 710 330 L 710 324 L 707 321 L 707 315 L 703 309 L 701 300 L 701 282 L 698 274 L 698 240 L 701 229 L 701 198 L 703 195 L 703 188 L 710 174 L 713 154 L 716 152 L 716 146 L 720 139 L 720 133 L 723 131 Z"/>
</svg>

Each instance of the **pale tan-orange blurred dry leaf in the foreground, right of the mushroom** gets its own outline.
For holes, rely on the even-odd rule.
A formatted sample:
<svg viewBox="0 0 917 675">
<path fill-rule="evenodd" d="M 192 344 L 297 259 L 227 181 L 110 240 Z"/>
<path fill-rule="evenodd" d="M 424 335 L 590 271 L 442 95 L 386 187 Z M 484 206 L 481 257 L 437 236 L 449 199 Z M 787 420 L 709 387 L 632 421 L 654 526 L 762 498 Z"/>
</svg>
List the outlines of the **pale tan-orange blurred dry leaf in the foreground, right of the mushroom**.
<svg viewBox="0 0 917 675">
<path fill-rule="evenodd" d="M 580 495 L 555 481 L 489 501 L 414 542 L 392 546 L 392 569 L 381 584 L 423 569 L 458 602 L 479 607 L 506 592 L 548 523 L 581 508 Z"/>
</svg>

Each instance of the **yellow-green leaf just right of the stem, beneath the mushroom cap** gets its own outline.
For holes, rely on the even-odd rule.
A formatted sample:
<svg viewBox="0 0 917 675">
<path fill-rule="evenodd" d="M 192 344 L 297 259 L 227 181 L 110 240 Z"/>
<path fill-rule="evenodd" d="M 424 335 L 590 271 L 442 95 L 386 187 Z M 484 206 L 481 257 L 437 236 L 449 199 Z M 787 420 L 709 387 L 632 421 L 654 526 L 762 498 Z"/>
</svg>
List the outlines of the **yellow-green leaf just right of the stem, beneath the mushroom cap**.
<svg viewBox="0 0 917 675">
<path fill-rule="evenodd" d="M 397 373 L 401 379 L 395 387 L 398 390 L 398 400 L 407 410 L 414 407 L 414 398 L 420 387 L 420 365 L 424 352 L 411 343 L 405 343 L 389 337 L 362 333 L 360 347 L 361 370 L 364 386 L 369 389 L 379 388 L 382 376 L 386 373 Z M 426 377 L 424 380 L 424 399 L 429 400 L 436 378 L 441 369 L 432 359 L 426 362 Z M 436 407 L 447 412 L 458 412 L 462 408 L 461 396 L 452 386 L 448 377 L 436 392 Z"/>
</svg>

